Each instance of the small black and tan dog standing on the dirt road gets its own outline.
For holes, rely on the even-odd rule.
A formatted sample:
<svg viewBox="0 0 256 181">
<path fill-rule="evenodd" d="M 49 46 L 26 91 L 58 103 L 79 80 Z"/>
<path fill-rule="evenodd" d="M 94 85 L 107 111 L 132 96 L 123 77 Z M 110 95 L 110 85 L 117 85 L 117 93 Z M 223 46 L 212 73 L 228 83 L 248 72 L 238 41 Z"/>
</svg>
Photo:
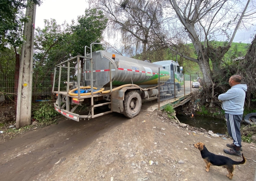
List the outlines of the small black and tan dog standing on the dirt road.
<svg viewBox="0 0 256 181">
<path fill-rule="evenodd" d="M 194 146 L 200 150 L 201 156 L 206 162 L 205 171 L 209 172 L 210 165 L 223 166 L 223 168 L 226 168 L 228 170 L 228 174 L 226 176 L 229 179 L 232 179 L 233 177 L 232 172 L 235 169 L 235 165 L 244 164 L 246 162 L 244 154 L 242 154 L 242 157 L 243 157 L 242 161 L 234 161 L 229 157 L 211 153 L 210 151 L 207 150 L 204 143 L 198 142 L 194 144 Z"/>
</svg>

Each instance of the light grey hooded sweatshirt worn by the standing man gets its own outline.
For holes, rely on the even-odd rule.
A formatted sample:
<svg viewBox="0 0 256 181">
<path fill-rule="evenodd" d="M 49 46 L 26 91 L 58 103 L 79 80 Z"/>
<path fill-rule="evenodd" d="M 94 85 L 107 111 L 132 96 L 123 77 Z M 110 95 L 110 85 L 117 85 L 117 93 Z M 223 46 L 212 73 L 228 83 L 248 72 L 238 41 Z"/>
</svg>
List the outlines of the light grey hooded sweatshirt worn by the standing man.
<svg viewBox="0 0 256 181">
<path fill-rule="evenodd" d="M 218 99 L 223 101 L 222 109 L 227 114 L 241 115 L 244 112 L 246 84 L 237 84 L 226 93 L 219 95 Z"/>
</svg>

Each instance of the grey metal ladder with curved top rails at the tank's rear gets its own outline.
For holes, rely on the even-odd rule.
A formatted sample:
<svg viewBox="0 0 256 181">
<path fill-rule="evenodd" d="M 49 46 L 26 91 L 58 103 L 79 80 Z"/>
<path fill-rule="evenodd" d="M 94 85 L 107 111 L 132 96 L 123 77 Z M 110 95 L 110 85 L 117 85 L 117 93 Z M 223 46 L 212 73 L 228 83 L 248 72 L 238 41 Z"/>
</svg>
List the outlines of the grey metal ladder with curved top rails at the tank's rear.
<svg viewBox="0 0 256 181">
<path fill-rule="evenodd" d="M 109 62 L 109 74 L 110 74 L 110 93 L 108 93 L 108 94 L 101 94 L 101 96 L 105 96 L 105 95 L 110 95 L 110 102 L 107 102 L 107 103 L 101 103 L 101 104 L 95 104 L 94 105 L 94 101 L 93 101 L 93 98 L 94 97 L 96 97 L 96 96 L 94 96 L 94 94 L 93 94 L 93 59 L 92 59 L 92 45 L 93 44 L 98 44 L 98 45 L 105 45 L 105 44 L 102 44 L 102 43 L 91 43 L 91 47 L 88 47 L 88 46 L 85 46 L 84 47 L 84 54 L 86 55 L 86 47 L 87 48 L 90 48 L 90 50 L 91 50 L 91 59 L 86 59 L 85 58 L 85 61 L 84 61 L 84 67 L 86 67 L 85 66 L 85 62 L 86 61 L 90 61 L 90 69 L 88 69 L 88 70 L 84 70 L 84 72 L 85 72 L 85 76 L 84 76 L 84 80 L 85 80 L 85 78 L 86 78 L 86 71 L 89 71 L 89 77 L 90 77 L 90 85 L 91 85 L 91 107 L 90 107 L 90 113 L 89 114 L 91 114 L 91 118 L 95 118 L 95 117 L 98 117 L 98 116 L 102 116 L 102 115 L 105 115 L 105 114 L 108 114 L 108 113 L 112 113 L 113 112 L 113 109 L 112 109 L 112 76 L 111 76 L 111 62 Z M 105 49 L 106 49 L 106 45 L 105 45 Z M 108 104 L 110 104 L 110 111 L 106 111 L 106 112 L 103 112 L 103 113 L 99 113 L 99 114 L 96 114 L 96 115 L 94 115 L 94 108 L 95 107 L 99 107 L 99 106 L 104 106 L 104 105 L 108 105 Z M 88 117 L 89 117 L 89 115 L 88 115 Z"/>
</svg>

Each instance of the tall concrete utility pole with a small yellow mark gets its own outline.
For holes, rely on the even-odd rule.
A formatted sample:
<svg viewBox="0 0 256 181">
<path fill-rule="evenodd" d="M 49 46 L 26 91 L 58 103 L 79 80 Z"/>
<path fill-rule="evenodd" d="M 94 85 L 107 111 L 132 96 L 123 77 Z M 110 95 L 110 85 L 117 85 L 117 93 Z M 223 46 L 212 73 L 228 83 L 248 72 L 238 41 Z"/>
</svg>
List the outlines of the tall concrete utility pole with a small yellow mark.
<svg viewBox="0 0 256 181">
<path fill-rule="evenodd" d="M 27 1 L 27 3 L 30 0 Z M 31 124 L 32 76 L 33 76 L 33 49 L 36 5 L 26 9 L 29 22 L 25 23 L 24 36 L 26 42 L 22 45 L 19 84 L 17 96 L 16 128 Z"/>
</svg>

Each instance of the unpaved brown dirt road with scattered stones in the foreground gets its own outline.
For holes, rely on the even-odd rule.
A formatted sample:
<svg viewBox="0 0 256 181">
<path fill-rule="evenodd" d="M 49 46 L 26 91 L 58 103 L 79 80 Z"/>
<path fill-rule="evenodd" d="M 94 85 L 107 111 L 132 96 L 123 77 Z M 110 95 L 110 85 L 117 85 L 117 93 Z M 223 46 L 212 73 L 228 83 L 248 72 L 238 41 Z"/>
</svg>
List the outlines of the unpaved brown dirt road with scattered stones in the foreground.
<svg viewBox="0 0 256 181">
<path fill-rule="evenodd" d="M 209 151 L 240 161 L 222 151 L 231 140 L 192 133 L 158 111 L 142 110 L 133 119 L 117 113 L 80 122 L 63 117 L 58 125 L 0 143 L 0 180 L 229 180 L 222 167 L 206 172 L 192 144 L 204 142 Z M 243 143 L 243 150 L 256 160 L 255 144 Z M 253 160 L 236 166 L 233 180 L 254 180 L 255 167 Z"/>
</svg>

